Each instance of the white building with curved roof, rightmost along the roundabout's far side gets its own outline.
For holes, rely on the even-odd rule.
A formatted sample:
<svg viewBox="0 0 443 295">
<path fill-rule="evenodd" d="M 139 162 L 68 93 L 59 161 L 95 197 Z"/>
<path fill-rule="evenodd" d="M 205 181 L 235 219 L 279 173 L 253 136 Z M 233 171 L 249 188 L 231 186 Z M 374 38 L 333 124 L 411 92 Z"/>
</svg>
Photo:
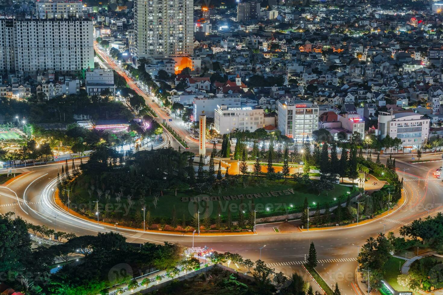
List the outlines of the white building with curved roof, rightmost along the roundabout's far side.
<svg viewBox="0 0 443 295">
<path fill-rule="evenodd" d="M 429 118 L 411 110 L 379 112 L 377 132 L 380 139 L 400 138 L 406 149 L 420 148 L 429 136 Z"/>
</svg>

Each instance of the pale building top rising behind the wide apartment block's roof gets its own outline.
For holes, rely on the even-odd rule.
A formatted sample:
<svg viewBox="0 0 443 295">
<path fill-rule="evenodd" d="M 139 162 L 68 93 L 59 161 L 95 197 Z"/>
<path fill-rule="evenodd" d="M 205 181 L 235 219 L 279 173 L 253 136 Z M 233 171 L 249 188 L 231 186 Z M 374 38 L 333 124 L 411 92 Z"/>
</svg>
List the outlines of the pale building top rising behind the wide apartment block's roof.
<svg viewBox="0 0 443 295">
<path fill-rule="evenodd" d="M 40 19 L 64 19 L 68 16 L 82 16 L 81 0 L 37 0 L 35 10 Z"/>
</svg>

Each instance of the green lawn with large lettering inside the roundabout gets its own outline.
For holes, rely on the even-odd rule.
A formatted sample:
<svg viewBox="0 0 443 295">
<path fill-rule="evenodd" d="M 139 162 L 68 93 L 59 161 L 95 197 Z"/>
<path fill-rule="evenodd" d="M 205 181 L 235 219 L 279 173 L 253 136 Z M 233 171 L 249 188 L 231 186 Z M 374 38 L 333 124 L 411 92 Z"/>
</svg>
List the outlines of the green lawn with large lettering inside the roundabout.
<svg viewBox="0 0 443 295">
<path fill-rule="evenodd" d="M 288 189 L 293 190 L 294 193 L 292 194 L 289 193 L 290 191 L 286 191 L 285 194 L 284 191 Z M 315 204 L 317 203 L 323 207 L 324 203 L 329 202 L 330 207 L 333 207 L 337 203 L 346 202 L 347 192 L 351 192 L 350 187 L 338 184 L 334 184 L 334 189 L 331 191 L 323 191 L 319 195 L 316 191 L 313 191 L 308 187 L 300 186 L 297 188 L 297 185 L 293 180 L 287 180 L 286 182 L 283 182 L 283 180 L 279 180 L 278 182 L 266 182 L 260 180 L 257 183 L 251 183 L 247 188 L 244 188 L 240 181 L 235 188 L 228 188 L 227 190 L 222 189 L 221 192 L 218 192 L 218 189 L 215 189 L 211 195 L 213 200 L 208 202 L 208 207 L 212 218 L 215 218 L 218 215 L 218 207 L 220 206 L 221 215 L 224 218 L 227 217 L 228 211 L 230 211 L 232 218 L 235 219 L 238 215 L 241 201 L 243 201 L 244 206 L 242 207 L 242 211 L 245 211 L 245 213 L 250 211 L 250 204 L 253 201 L 255 204 L 255 210 L 257 211 L 256 217 L 260 218 L 264 216 L 285 215 L 288 213 L 299 212 L 301 211 L 305 197 L 312 208 L 311 210 L 315 210 Z M 274 195 L 272 195 L 272 193 Z M 350 195 L 353 196 L 356 193 L 357 192 L 351 192 Z M 258 195 L 253 194 L 260 194 L 261 197 L 256 197 Z M 82 195 L 84 200 L 89 199 L 87 190 L 77 185 L 74 187 L 74 192 L 71 195 L 71 204 L 78 202 L 75 195 Z M 233 195 L 245 195 L 245 197 L 244 199 L 231 199 L 230 196 Z M 249 198 L 247 195 L 249 195 Z M 229 200 L 225 200 L 224 196 L 229 197 Z M 183 215 L 185 215 L 187 220 L 190 220 L 189 218 L 191 218 L 195 210 L 195 204 L 193 202 L 195 197 L 202 198 L 208 197 L 208 195 L 199 194 L 198 192 L 189 189 L 184 192 L 177 192 L 177 196 L 175 196 L 175 191 L 165 190 L 163 191 L 163 196 L 159 196 L 156 207 L 153 203 L 154 195 L 148 195 L 145 199 L 147 209 L 151 212 L 152 217 L 169 219 L 171 218 L 172 211 L 175 207 L 175 215 L 177 218 L 182 218 Z M 137 199 L 137 196 L 134 196 L 135 202 L 129 210 L 129 214 L 131 215 L 140 210 L 140 203 Z M 106 202 L 103 196 L 100 203 L 102 204 L 101 207 L 104 208 Z M 125 198 L 122 198 L 122 201 L 117 202 L 114 196 L 111 196 L 107 203 L 110 203 L 111 205 L 124 203 L 119 207 L 120 210 L 125 210 L 125 207 L 128 207 Z M 201 200 L 199 204 L 199 211 L 206 211 L 206 202 Z M 116 209 L 117 205 L 109 207 L 109 209 L 111 208 Z M 112 209 L 110 211 L 112 211 Z M 202 218 L 202 216 L 200 217 Z"/>
</svg>

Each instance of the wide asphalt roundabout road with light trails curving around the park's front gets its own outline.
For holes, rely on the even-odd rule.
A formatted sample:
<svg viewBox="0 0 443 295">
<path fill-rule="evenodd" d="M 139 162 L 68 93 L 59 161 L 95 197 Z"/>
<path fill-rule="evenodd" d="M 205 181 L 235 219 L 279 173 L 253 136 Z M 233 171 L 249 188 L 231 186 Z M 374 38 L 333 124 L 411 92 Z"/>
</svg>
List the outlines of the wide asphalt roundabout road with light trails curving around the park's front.
<svg viewBox="0 0 443 295">
<path fill-rule="evenodd" d="M 428 157 L 428 156 L 427 156 Z M 430 157 L 430 156 L 429 156 Z M 439 157 L 437 155 L 437 157 Z M 404 161 L 403 161 L 403 160 Z M 400 226 L 419 217 L 426 217 L 441 211 L 443 195 L 440 193 L 442 182 L 432 173 L 441 165 L 441 162 L 425 164 L 409 164 L 408 157 L 397 157 L 396 165 L 403 176 L 404 171 L 405 206 L 383 218 L 369 224 L 346 229 L 311 231 L 299 233 L 256 234 L 246 236 L 198 236 L 194 237 L 196 246 L 209 246 L 218 251 L 240 253 L 246 258 L 257 260 L 260 256 L 260 246 L 266 245 L 261 251 L 261 259 L 270 267 L 291 275 L 293 271 L 300 271 L 300 264 L 311 241 L 315 243 L 319 266 L 317 270 L 330 285 L 338 282 L 344 295 L 360 294 L 354 286 L 354 272 L 357 267 L 356 257 L 358 246 L 365 243 L 370 236 L 378 233 L 394 231 L 398 234 Z M 385 158 L 382 158 L 385 161 Z M 52 164 L 40 167 L 22 168 L 22 171 L 34 171 L 19 178 L 7 188 L 0 188 L 0 213 L 16 211 L 28 222 L 45 224 L 57 230 L 73 232 L 77 235 L 97 234 L 97 232 L 118 231 L 130 242 L 178 242 L 191 246 L 192 237 L 183 235 L 167 235 L 144 233 L 143 231 L 126 230 L 112 226 L 103 226 L 97 223 L 85 222 L 72 217 L 58 209 L 51 198 L 58 168 L 61 165 Z M 2 171 L 0 171 L 2 172 Z M 11 191 L 12 190 L 12 191 Z M 17 200 L 14 192 L 19 198 Z M 161 201 L 161 200 L 160 200 Z M 91 204 L 93 206 L 93 203 Z M 93 208 L 93 207 L 92 207 Z M 427 211 L 429 210 L 429 212 Z M 262 225 L 257 226 L 260 232 Z"/>
</svg>

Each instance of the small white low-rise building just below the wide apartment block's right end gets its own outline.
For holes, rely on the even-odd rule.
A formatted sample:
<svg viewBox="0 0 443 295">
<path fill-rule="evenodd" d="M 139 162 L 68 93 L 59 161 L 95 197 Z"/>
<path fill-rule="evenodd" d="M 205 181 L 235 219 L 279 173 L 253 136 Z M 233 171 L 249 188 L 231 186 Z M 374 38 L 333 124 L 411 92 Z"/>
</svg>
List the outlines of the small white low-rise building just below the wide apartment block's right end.
<svg viewBox="0 0 443 295">
<path fill-rule="evenodd" d="M 88 95 L 99 95 L 105 89 L 109 89 L 115 95 L 114 70 L 93 69 L 86 71 L 86 92 Z"/>
</svg>

